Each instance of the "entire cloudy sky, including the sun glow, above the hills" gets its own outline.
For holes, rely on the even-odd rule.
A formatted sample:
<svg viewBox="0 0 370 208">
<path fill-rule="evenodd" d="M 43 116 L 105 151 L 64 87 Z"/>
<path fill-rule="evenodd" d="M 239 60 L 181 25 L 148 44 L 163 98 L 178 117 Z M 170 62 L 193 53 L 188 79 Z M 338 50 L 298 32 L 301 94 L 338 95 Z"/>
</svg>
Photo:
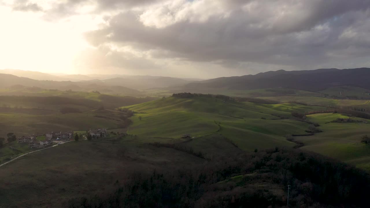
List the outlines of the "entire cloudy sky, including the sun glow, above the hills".
<svg viewBox="0 0 370 208">
<path fill-rule="evenodd" d="M 0 0 L 0 69 L 214 78 L 370 67 L 370 0 Z"/>
</svg>

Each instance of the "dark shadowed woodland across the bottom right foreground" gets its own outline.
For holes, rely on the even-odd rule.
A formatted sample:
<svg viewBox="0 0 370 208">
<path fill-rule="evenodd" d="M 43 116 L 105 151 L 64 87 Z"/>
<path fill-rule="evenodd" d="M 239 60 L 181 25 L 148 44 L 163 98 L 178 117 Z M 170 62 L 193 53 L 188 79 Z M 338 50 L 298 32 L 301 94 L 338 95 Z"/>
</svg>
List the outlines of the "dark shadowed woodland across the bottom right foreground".
<svg viewBox="0 0 370 208">
<path fill-rule="evenodd" d="M 68 207 L 285 208 L 287 185 L 291 207 L 368 207 L 367 173 L 279 148 L 211 161 L 192 170 L 137 173 L 124 183 L 116 181 L 114 191 L 71 199 Z"/>
</svg>

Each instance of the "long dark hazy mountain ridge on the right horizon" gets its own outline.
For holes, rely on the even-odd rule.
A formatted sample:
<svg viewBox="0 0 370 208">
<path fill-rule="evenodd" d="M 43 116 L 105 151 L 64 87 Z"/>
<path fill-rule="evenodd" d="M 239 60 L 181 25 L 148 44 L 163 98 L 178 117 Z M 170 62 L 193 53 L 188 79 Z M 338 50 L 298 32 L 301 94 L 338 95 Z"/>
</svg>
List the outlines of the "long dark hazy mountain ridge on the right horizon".
<svg viewBox="0 0 370 208">
<path fill-rule="evenodd" d="M 342 85 L 370 89 L 370 68 L 268 71 L 256 75 L 220 77 L 199 81 L 187 84 L 184 88 L 226 88 L 230 90 L 250 90 L 285 87 L 308 91 L 319 91 L 328 87 Z"/>
</svg>

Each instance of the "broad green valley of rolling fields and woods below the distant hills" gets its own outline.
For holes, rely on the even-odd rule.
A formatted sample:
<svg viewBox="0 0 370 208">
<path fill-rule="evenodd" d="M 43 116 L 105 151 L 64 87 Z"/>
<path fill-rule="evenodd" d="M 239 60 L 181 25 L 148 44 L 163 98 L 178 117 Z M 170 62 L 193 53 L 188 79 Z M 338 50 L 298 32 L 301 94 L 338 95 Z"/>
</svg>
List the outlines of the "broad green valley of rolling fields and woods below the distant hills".
<svg viewBox="0 0 370 208">
<path fill-rule="evenodd" d="M 121 79 L 127 77 L 115 79 L 109 86 L 119 86 L 117 80 Z M 17 137 L 35 134 L 36 140 L 44 141 L 48 132 L 73 131 L 73 137 L 79 135 L 80 140 L 71 137 L 70 142 L 1 166 L 1 208 L 80 208 L 81 204 L 94 207 L 99 203 L 119 207 L 111 204 L 118 200 L 115 197 L 120 206 L 135 201 L 145 207 L 159 200 L 150 194 L 161 192 L 155 187 L 172 190 L 161 192 L 164 198 L 159 201 L 168 204 L 165 197 L 171 196 L 176 199 L 173 206 L 213 207 L 216 198 L 230 205 L 235 203 L 229 200 L 233 192 L 238 193 L 240 203 L 257 203 L 259 199 L 251 196 L 263 192 L 266 194 L 259 194 L 261 203 L 268 198 L 268 203 L 282 207 L 288 184 L 297 190 L 291 196 L 296 206 L 302 201 L 301 192 L 307 200 L 317 201 L 317 206 L 305 202 L 313 207 L 348 204 L 346 200 L 353 199 L 360 207 L 364 203 L 357 199 L 360 189 L 354 187 L 358 186 L 344 185 L 356 193 L 344 196 L 337 184 L 345 183 L 340 179 L 343 175 L 351 175 L 351 180 L 357 178 L 361 184 L 370 180 L 370 147 L 364 143 L 370 135 L 370 101 L 330 93 L 344 89 L 362 95 L 366 92 L 363 88 L 209 87 L 180 93 L 189 89 L 189 84 L 179 83 L 104 93 L 92 88 L 78 91 L 39 86 L 1 88 L 0 138 L 4 139 L 0 164 L 34 150 L 28 143 L 7 142 L 10 132 Z M 91 129 L 104 129 L 107 136 L 87 139 Z M 58 141 L 53 140 L 55 144 Z M 167 187 L 162 179 L 184 189 Z M 191 181 L 196 181 L 194 186 Z M 334 188 L 324 191 L 324 186 Z M 315 192 L 305 192 L 305 187 Z M 174 193 L 182 193 L 186 199 Z M 337 198 L 328 201 L 314 193 Z M 137 201 L 137 196 L 145 200 Z"/>
</svg>

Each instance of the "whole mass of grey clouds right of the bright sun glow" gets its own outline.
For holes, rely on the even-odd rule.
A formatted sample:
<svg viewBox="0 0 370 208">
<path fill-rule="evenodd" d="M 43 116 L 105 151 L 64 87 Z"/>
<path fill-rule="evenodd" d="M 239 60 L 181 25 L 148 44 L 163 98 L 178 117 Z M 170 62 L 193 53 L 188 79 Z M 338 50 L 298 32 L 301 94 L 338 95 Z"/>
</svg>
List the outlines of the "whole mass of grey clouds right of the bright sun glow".
<svg viewBox="0 0 370 208">
<path fill-rule="evenodd" d="M 225 76 L 370 64 L 370 0 L 67 0 L 45 13 L 78 15 L 91 3 L 105 24 L 85 34 L 95 49 L 82 60 L 101 68 L 170 63 L 162 70 Z"/>
</svg>

